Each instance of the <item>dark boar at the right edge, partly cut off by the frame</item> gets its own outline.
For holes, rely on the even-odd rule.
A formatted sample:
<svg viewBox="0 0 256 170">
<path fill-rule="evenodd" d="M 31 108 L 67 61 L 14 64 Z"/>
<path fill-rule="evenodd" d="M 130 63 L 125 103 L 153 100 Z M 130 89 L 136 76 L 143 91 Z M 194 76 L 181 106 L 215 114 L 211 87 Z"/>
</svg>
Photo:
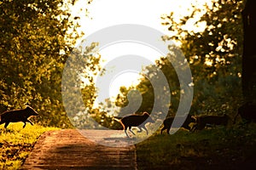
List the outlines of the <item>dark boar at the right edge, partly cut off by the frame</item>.
<svg viewBox="0 0 256 170">
<path fill-rule="evenodd" d="M 236 122 L 236 117 L 240 115 L 241 119 L 247 122 L 256 122 L 256 104 L 253 102 L 247 102 L 238 108 L 237 114 L 234 118 L 234 123 Z"/>
</svg>

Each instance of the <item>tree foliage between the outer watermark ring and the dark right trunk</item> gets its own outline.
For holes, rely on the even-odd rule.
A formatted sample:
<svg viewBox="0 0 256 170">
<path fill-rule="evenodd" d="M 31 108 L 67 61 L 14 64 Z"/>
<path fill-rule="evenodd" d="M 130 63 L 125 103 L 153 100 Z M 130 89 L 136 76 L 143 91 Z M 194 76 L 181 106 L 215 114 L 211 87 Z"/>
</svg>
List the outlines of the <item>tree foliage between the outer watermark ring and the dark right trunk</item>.
<svg viewBox="0 0 256 170">
<path fill-rule="evenodd" d="M 244 1 L 213 1 L 207 13 L 195 22 L 206 24 L 204 31 L 187 31 L 183 26 L 201 12 L 195 11 L 179 22 L 172 14 L 164 17 L 171 32 L 167 39 L 182 43 L 183 54 L 189 61 L 195 84 L 194 111 L 230 114 L 241 104 L 241 54 Z M 225 108 L 224 108 L 225 107 Z M 228 108 L 227 108 L 228 107 Z M 196 109 L 197 108 L 197 109 Z"/>
</svg>

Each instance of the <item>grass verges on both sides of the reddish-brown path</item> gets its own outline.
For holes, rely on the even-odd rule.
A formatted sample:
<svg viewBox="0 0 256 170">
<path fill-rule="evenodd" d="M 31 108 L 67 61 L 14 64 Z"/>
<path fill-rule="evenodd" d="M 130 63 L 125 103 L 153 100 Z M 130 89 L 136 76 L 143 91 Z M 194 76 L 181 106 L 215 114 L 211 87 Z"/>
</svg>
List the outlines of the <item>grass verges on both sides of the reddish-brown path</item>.
<svg viewBox="0 0 256 170">
<path fill-rule="evenodd" d="M 0 126 L 0 169 L 20 169 L 38 137 L 55 127 L 12 123 Z M 195 133 L 154 133 L 136 145 L 141 169 L 249 169 L 256 161 L 256 124 Z M 255 166 L 254 166 L 255 167 Z"/>
</svg>

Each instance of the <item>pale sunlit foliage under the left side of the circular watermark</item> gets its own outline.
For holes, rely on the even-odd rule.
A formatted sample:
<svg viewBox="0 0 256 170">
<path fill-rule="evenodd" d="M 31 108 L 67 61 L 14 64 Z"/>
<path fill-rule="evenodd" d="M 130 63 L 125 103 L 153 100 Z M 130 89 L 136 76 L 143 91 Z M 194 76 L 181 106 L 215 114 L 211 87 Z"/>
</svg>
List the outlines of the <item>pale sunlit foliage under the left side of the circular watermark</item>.
<svg viewBox="0 0 256 170">
<path fill-rule="evenodd" d="M 99 124 L 110 127 L 113 122 L 113 118 L 107 116 L 105 111 L 95 108 L 95 79 L 101 71 L 102 63 L 97 45 L 97 42 L 93 42 L 84 50 L 84 43 L 81 42 L 79 47 L 73 49 L 67 59 L 67 71 L 63 72 L 62 99 L 66 103 L 65 108 L 71 122 L 78 128 L 101 127 Z"/>
</svg>

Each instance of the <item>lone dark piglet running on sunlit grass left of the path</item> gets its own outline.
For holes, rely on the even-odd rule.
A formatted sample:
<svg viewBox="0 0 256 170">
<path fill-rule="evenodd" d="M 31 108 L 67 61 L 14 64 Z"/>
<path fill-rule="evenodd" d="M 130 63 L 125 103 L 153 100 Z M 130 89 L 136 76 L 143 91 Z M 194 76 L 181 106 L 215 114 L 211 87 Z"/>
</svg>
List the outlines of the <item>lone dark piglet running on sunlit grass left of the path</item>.
<svg viewBox="0 0 256 170">
<path fill-rule="evenodd" d="M 26 109 L 4 111 L 0 115 L 0 125 L 5 123 L 6 128 L 10 122 L 24 122 L 24 127 L 26 127 L 26 122 L 33 123 L 28 119 L 30 116 L 38 116 L 38 112 L 34 111 L 32 107 L 26 105 Z"/>
</svg>

